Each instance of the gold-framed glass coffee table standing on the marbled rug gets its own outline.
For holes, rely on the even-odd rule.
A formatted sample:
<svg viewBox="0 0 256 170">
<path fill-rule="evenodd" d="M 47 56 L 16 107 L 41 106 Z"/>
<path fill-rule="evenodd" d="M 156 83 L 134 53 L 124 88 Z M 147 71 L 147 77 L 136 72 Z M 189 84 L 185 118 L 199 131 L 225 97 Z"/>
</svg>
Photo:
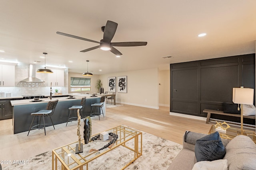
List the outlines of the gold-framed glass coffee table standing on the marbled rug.
<svg viewBox="0 0 256 170">
<path fill-rule="evenodd" d="M 126 156 L 125 160 L 119 160 L 122 157 L 119 158 L 114 163 L 114 166 L 115 169 L 125 169 L 142 155 L 142 133 L 140 131 L 120 125 L 108 129 L 106 132 L 118 135 L 118 139 L 112 148 L 98 150 L 107 145 L 109 143 L 108 140 L 96 140 L 88 144 L 84 144 L 84 140 L 81 140 L 83 152 L 78 154 L 75 153 L 78 141 L 56 148 L 52 150 L 52 170 L 88 170 L 90 166 L 93 166 L 90 167 L 90 169 L 93 169 L 97 168 L 99 163 L 108 164 L 114 159 L 112 156 L 122 156 L 122 154 Z M 94 136 L 92 135 L 92 137 Z M 89 152 L 92 149 L 97 151 Z"/>
</svg>

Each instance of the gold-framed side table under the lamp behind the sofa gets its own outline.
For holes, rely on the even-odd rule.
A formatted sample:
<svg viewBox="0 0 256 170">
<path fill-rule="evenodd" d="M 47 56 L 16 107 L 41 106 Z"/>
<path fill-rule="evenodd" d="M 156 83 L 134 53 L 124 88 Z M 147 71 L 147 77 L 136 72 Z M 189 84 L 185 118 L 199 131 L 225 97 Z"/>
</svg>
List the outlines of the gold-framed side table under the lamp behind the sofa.
<svg viewBox="0 0 256 170">
<path fill-rule="evenodd" d="M 211 133 L 214 133 L 214 132 L 216 132 L 215 126 L 212 125 L 208 134 L 211 134 Z M 220 133 L 220 137 L 223 138 L 223 139 L 233 139 L 237 135 L 241 135 L 241 129 L 236 129 L 236 128 L 230 127 L 228 129 L 226 129 L 226 133 L 224 133 L 224 132 L 219 132 L 219 133 Z M 256 133 L 255 133 L 255 131 L 244 130 L 243 135 L 246 135 L 246 136 L 250 137 L 252 139 L 252 141 L 254 141 L 254 143 L 256 143 Z"/>
</svg>

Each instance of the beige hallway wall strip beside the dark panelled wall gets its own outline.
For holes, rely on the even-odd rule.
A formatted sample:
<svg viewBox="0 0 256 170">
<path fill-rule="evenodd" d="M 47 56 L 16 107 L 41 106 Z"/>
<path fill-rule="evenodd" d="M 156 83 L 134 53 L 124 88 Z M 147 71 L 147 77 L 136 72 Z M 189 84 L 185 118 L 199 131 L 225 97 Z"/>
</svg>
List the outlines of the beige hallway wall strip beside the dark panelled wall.
<svg viewBox="0 0 256 170">
<path fill-rule="evenodd" d="M 159 106 L 170 107 L 170 70 L 158 71 Z"/>
</svg>

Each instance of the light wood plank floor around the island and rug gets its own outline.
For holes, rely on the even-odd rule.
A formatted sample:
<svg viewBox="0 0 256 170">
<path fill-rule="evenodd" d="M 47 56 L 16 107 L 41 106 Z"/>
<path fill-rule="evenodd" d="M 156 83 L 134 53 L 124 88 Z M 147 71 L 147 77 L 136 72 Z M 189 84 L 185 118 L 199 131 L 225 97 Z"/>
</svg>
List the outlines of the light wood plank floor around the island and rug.
<svg viewBox="0 0 256 170">
<path fill-rule="evenodd" d="M 82 124 L 82 123 L 81 123 Z M 106 116 L 92 117 L 92 134 L 97 134 L 118 125 L 135 129 L 182 144 L 186 130 L 208 133 L 211 125 L 205 121 L 169 115 L 169 107 L 150 109 L 138 106 L 118 106 L 106 109 Z M 77 121 L 62 123 L 44 130 L 13 134 L 12 119 L 0 120 L 0 160 L 26 160 L 37 154 L 61 147 L 78 140 Z M 81 125 L 81 134 L 83 125 Z M 7 165 L 2 165 L 7 166 Z"/>
</svg>

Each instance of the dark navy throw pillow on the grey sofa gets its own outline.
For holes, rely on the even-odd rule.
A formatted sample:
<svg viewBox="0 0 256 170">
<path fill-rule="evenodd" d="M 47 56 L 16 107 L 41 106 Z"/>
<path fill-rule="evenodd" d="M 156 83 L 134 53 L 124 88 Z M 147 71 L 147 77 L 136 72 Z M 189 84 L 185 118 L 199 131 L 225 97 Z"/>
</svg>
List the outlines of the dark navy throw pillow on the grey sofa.
<svg viewBox="0 0 256 170">
<path fill-rule="evenodd" d="M 197 162 L 222 159 L 226 148 L 222 144 L 219 132 L 212 133 L 196 140 L 195 155 Z"/>
</svg>

